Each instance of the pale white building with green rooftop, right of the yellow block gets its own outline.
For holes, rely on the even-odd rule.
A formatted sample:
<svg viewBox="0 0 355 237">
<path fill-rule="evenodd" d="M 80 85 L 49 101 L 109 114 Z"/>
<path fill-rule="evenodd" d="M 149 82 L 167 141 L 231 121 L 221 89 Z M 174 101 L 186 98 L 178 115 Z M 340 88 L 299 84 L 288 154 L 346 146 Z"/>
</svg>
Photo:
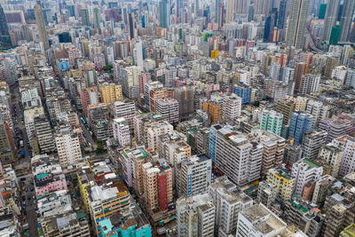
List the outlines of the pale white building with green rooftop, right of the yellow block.
<svg viewBox="0 0 355 237">
<path fill-rule="evenodd" d="M 309 159 L 302 159 L 292 166 L 291 176 L 295 178 L 294 194 L 302 196 L 304 186 L 316 182 L 323 174 L 323 167 Z"/>
</svg>

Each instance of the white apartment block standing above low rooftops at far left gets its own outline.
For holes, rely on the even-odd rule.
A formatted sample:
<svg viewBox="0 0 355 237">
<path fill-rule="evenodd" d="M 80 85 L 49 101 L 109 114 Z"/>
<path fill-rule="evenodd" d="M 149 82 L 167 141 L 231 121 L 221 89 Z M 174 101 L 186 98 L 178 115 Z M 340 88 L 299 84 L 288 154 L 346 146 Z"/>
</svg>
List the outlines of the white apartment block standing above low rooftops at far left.
<svg viewBox="0 0 355 237">
<path fill-rule="evenodd" d="M 61 131 L 55 137 L 55 143 L 61 165 L 76 164 L 82 159 L 82 151 L 77 133 L 69 130 Z"/>
</svg>

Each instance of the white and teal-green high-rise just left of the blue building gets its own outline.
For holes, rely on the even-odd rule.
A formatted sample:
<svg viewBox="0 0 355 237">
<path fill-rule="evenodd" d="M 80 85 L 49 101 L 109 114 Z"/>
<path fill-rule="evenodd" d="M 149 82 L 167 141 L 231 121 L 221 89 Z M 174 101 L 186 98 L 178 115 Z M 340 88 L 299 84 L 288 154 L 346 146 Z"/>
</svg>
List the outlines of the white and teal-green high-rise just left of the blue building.
<svg viewBox="0 0 355 237">
<path fill-rule="evenodd" d="M 283 115 L 264 109 L 261 114 L 260 129 L 270 131 L 278 136 L 281 135 Z"/>
</svg>

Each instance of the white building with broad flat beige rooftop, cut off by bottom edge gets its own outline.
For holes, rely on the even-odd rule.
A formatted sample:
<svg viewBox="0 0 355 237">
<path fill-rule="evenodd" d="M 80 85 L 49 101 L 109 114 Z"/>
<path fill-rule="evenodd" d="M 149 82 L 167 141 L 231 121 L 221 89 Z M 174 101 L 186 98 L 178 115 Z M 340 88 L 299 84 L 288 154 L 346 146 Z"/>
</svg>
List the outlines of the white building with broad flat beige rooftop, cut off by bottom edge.
<svg viewBox="0 0 355 237">
<path fill-rule="evenodd" d="M 238 215 L 237 237 L 274 237 L 286 232 L 287 224 L 263 204 L 251 206 Z"/>
</svg>

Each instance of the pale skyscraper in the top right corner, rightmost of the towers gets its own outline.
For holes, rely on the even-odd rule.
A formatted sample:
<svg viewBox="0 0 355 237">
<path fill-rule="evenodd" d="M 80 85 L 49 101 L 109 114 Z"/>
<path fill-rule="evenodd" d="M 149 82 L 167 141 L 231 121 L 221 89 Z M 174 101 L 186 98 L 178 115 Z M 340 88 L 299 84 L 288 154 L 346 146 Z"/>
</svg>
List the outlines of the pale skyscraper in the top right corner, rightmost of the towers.
<svg viewBox="0 0 355 237">
<path fill-rule="evenodd" d="M 339 37 L 340 42 L 348 41 L 354 9 L 355 1 L 344 0 L 342 17 L 340 19 L 340 25 L 342 26 Z"/>
</svg>

